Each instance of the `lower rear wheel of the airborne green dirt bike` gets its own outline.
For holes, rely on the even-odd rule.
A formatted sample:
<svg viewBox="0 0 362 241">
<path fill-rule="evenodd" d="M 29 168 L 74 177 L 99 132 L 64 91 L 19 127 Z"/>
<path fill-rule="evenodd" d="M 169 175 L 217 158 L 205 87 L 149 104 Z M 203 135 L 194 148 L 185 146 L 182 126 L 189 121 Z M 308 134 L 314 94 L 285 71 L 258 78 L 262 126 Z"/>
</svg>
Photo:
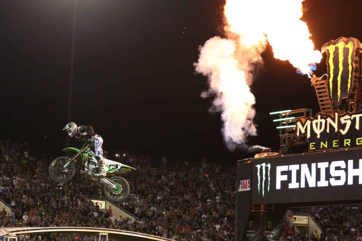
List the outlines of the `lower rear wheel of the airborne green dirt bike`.
<svg viewBox="0 0 362 241">
<path fill-rule="evenodd" d="M 130 187 L 128 181 L 121 176 L 113 176 L 109 178 L 117 188 L 103 187 L 103 192 L 107 199 L 114 202 L 119 202 L 126 199 L 130 193 Z"/>
</svg>

